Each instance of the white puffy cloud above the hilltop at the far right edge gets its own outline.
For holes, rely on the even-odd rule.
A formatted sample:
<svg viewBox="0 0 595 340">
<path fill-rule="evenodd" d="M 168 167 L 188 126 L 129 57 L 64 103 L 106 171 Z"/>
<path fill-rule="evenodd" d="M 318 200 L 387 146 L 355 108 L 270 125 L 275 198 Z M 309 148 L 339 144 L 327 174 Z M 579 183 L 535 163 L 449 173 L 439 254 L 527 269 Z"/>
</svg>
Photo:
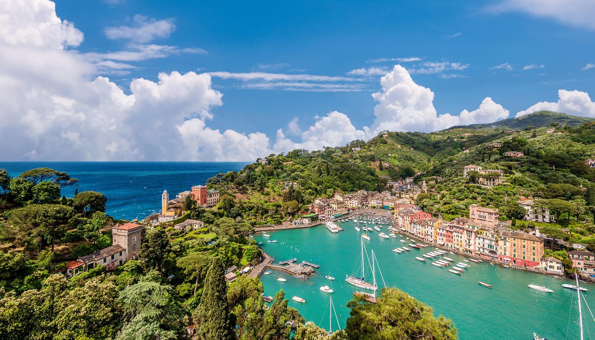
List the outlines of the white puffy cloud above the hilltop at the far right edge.
<svg viewBox="0 0 595 340">
<path fill-rule="evenodd" d="M 541 110 L 563 112 L 574 116 L 595 117 L 595 103 L 591 101 L 588 93 L 577 90 L 558 90 L 558 97 L 556 102 L 540 101 L 527 110 L 516 113 L 516 117 Z"/>
</svg>

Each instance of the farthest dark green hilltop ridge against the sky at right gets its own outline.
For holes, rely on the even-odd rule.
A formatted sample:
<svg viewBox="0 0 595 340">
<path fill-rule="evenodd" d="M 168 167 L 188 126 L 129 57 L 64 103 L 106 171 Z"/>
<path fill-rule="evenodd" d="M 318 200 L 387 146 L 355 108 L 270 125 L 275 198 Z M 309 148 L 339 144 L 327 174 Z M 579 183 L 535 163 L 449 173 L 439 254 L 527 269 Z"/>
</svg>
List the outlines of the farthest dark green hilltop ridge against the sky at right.
<svg viewBox="0 0 595 340">
<path fill-rule="evenodd" d="M 483 128 L 500 128 L 500 129 L 521 129 L 524 130 L 527 126 L 535 126 L 537 128 L 541 128 L 544 126 L 550 126 L 552 123 L 562 123 L 563 125 L 569 125 L 572 127 L 582 125 L 584 123 L 590 122 L 591 118 L 588 117 L 578 117 L 578 116 L 571 116 L 566 115 L 566 113 L 562 112 L 553 112 L 553 111 L 537 111 L 531 113 L 530 115 L 521 116 L 518 118 L 509 118 L 498 120 L 497 122 L 493 123 L 486 123 L 486 124 L 472 124 L 472 125 L 462 125 L 462 126 L 453 126 L 449 129 L 473 129 L 479 130 Z M 449 130 L 447 129 L 447 130 Z"/>
</svg>

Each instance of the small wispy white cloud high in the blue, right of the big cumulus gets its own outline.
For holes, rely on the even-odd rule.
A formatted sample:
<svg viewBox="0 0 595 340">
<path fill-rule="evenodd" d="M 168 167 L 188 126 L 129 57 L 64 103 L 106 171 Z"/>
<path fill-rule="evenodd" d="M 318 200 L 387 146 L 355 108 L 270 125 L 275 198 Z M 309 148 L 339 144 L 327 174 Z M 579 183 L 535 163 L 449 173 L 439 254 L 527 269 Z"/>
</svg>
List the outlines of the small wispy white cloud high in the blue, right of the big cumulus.
<svg viewBox="0 0 595 340">
<path fill-rule="evenodd" d="M 166 38 L 176 30 L 173 20 L 149 19 L 144 15 L 134 15 L 133 26 L 105 28 L 105 36 L 109 39 L 129 39 L 139 43 L 150 42 L 155 38 Z"/>
</svg>

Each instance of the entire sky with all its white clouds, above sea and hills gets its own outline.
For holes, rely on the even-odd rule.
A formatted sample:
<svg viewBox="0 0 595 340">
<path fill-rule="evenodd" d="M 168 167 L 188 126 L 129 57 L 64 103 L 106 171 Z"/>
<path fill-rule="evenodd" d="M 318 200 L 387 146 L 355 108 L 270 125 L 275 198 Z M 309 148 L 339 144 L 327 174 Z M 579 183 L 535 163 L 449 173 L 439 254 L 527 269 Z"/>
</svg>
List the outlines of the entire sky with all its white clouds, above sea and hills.
<svg viewBox="0 0 595 340">
<path fill-rule="evenodd" d="M 595 117 L 595 2 L 0 2 L 0 161 L 254 161 Z"/>
</svg>

